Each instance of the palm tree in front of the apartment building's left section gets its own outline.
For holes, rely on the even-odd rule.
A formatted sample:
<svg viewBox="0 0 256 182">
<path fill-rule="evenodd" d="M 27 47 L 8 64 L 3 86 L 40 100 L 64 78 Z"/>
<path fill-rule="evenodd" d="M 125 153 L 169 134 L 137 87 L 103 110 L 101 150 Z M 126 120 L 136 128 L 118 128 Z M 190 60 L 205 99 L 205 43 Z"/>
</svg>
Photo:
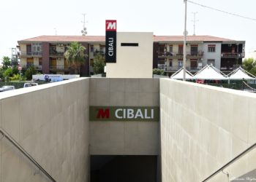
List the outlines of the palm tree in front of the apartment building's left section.
<svg viewBox="0 0 256 182">
<path fill-rule="evenodd" d="M 69 63 L 71 68 L 75 69 L 75 74 L 80 73 L 80 66 L 86 63 L 88 55 L 83 53 L 84 50 L 86 50 L 86 47 L 75 41 L 71 43 L 71 47 L 68 46 L 68 50 L 65 52 L 67 63 Z"/>
</svg>

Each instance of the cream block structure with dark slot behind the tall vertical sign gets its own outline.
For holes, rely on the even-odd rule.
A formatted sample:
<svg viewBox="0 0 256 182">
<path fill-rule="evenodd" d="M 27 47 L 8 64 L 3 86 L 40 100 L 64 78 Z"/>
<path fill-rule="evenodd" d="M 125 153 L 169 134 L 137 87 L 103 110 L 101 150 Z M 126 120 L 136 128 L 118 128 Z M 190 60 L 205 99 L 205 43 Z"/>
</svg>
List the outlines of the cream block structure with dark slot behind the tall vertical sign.
<svg viewBox="0 0 256 182">
<path fill-rule="evenodd" d="M 109 78 L 152 78 L 153 33 L 117 32 L 116 63 L 107 63 Z M 138 43 L 138 47 L 121 47 L 121 43 Z"/>
</svg>

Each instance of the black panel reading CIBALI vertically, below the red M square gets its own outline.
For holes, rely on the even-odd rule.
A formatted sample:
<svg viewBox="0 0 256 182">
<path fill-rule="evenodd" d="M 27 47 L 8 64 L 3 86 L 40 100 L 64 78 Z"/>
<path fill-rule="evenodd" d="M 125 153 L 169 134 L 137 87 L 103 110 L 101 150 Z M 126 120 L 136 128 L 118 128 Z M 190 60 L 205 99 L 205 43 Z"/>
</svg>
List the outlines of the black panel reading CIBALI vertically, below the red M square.
<svg viewBox="0 0 256 182">
<path fill-rule="evenodd" d="M 106 31 L 106 63 L 116 63 L 116 31 Z"/>
</svg>

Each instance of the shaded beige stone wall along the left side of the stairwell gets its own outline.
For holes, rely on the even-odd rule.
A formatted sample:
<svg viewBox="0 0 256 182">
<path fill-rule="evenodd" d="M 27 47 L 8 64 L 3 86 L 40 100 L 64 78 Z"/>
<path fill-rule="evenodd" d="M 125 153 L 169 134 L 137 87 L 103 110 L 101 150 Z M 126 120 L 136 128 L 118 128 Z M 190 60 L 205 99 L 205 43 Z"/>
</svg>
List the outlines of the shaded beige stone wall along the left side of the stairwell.
<svg viewBox="0 0 256 182">
<path fill-rule="evenodd" d="M 89 79 L 2 92 L 0 127 L 56 181 L 89 181 Z M 34 170 L 10 141 L 0 141 L 1 182 L 49 181 Z"/>
</svg>

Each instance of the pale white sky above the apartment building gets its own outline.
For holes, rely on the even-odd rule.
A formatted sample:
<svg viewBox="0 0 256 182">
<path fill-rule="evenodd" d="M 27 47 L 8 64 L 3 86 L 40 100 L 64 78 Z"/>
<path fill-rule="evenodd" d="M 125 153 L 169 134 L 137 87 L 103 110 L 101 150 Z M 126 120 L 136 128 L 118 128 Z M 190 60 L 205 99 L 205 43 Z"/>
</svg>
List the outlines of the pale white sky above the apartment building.
<svg viewBox="0 0 256 182">
<path fill-rule="evenodd" d="M 208 7 L 256 19 L 255 0 L 190 0 Z M 11 55 L 19 40 L 35 36 L 79 36 L 87 13 L 88 36 L 105 36 L 105 20 L 117 20 L 117 31 L 154 32 L 157 36 L 181 36 L 184 32 L 183 0 L 0 0 L 0 58 Z M 192 12 L 198 12 L 196 35 L 246 41 L 246 56 L 256 50 L 255 20 L 187 3 L 187 31 L 193 34 Z"/>
</svg>

